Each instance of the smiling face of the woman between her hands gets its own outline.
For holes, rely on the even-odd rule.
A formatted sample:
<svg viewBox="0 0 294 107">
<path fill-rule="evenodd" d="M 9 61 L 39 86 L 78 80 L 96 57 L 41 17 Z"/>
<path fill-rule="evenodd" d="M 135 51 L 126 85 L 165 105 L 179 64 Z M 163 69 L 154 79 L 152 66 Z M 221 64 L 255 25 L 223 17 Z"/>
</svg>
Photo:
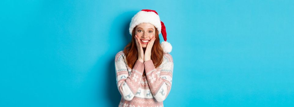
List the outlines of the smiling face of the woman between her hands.
<svg viewBox="0 0 294 107">
<path fill-rule="evenodd" d="M 142 23 L 137 25 L 135 32 L 141 40 L 142 47 L 146 48 L 150 39 L 155 36 L 155 27 L 152 24 Z"/>
</svg>

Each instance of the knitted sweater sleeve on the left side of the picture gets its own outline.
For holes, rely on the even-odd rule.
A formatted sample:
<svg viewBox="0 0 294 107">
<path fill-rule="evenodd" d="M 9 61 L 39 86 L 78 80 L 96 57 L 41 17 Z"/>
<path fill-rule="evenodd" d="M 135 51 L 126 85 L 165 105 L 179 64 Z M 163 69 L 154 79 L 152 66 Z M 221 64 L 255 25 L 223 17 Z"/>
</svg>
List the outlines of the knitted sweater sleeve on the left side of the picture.
<svg viewBox="0 0 294 107">
<path fill-rule="evenodd" d="M 121 96 L 127 101 L 132 100 L 140 87 L 144 63 L 137 60 L 129 75 L 124 53 L 120 51 L 115 56 L 115 71 L 117 88 Z"/>
</svg>

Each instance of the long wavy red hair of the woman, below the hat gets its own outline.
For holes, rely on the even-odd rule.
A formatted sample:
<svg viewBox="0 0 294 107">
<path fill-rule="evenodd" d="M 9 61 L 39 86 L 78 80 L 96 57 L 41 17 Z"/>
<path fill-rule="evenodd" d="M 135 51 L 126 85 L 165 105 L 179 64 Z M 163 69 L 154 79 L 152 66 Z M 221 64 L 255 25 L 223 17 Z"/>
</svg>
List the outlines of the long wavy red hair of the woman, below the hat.
<svg viewBox="0 0 294 107">
<path fill-rule="evenodd" d="M 133 68 L 135 65 L 135 62 L 138 60 L 138 50 L 137 50 L 137 45 L 136 45 L 136 40 L 135 40 L 136 27 L 132 31 L 131 42 L 129 42 L 128 45 L 125 46 L 125 49 L 124 49 L 127 65 L 130 68 Z M 155 28 L 155 38 L 156 39 L 155 39 L 154 44 L 151 49 L 151 60 L 154 64 L 154 67 L 157 68 L 162 63 L 162 60 L 163 60 L 163 49 L 160 45 L 158 30 L 156 27 L 154 27 L 154 28 Z"/>
</svg>

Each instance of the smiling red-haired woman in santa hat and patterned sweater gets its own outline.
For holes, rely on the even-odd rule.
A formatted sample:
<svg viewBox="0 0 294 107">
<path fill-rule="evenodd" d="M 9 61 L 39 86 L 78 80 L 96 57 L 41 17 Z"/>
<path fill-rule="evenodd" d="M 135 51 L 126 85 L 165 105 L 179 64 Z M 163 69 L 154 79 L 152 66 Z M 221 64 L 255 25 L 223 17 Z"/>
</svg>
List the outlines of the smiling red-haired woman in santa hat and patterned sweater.
<svg viewBox="0 0 294 107">
<path fill-rule="evenodd" d="M 143 9 L 132 17 L 129 31 L 131 42 L 115 56 L 119 107 L 163 107 L 173 77 L 172 46 L 166 42 L 165 26 L 156 11 Z"/>
</svg>

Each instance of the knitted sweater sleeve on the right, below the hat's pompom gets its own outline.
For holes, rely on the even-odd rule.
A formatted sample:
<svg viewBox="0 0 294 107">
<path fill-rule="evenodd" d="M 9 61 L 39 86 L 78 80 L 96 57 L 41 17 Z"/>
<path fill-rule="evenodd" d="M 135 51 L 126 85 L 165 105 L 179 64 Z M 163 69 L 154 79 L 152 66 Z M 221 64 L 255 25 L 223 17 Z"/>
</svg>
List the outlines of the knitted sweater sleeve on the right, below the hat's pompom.
<svg viewBox="0 0 294 107">
<path fill-rule="evenodd" d="M 172 87 L 173 58 L 169 53 L 165 54 L 162 66 L 154 67 L 152 60 L 144 62 L 145 72 L 152 95 L 158 101 L 164 101 Z"/>
</svg>

